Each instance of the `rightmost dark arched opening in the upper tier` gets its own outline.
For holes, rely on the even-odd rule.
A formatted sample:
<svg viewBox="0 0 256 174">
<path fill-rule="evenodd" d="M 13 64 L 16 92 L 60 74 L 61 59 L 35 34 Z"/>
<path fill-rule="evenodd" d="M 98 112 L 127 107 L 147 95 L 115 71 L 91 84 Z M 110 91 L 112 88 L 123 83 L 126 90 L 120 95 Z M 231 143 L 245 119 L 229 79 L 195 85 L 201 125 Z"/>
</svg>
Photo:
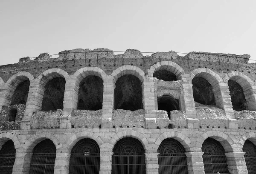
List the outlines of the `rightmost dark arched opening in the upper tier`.
<svg viewBox="0 0 256 174">
<path fill-rule="evenodd" d="M 229 86 L 228 89 L 230 91 L 233 110 L 235 111 L 247 110 L 248 107 L 244 97 L 243 88 L 239 85 L 239 83 L 233 80 L 228 80 L 227 84 Z"/>
</svg>

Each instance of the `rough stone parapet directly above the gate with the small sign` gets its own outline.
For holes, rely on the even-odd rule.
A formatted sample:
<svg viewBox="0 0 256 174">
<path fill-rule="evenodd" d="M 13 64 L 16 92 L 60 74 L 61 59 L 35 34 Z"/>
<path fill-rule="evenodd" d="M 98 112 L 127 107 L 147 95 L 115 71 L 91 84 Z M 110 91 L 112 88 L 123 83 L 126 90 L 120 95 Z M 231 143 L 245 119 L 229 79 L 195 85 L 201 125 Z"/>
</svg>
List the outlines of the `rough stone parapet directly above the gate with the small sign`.
<svg viewBox="0 0 256 174">
<path fill-rule="evenodd" d="M 102 109 L 97 111 L 74 110 L 71 114 L 72 128 L 99 128 L 102 120 Z"/>
</svg>

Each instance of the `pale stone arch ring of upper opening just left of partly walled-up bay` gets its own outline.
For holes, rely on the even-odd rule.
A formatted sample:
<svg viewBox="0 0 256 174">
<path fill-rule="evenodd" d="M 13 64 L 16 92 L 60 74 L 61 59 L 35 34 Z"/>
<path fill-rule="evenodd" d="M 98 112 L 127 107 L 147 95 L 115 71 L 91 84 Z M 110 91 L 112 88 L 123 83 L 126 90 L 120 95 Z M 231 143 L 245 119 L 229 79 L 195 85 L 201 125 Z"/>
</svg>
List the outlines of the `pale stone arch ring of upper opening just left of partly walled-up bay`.
<svg viewBox="0 0 256 174">
<path fill-rule="evenodd" d="M 134 75 L 140 79 L 141 83 L 143 83 L 145 73 L 137 66 L 124 65 L 117 68 L 111 74 L 111 76 L 113 77 L 114 83 L 116 83 L 116 80 L 119 77 L 122 77 L 123 75 Z"/>
</svg>

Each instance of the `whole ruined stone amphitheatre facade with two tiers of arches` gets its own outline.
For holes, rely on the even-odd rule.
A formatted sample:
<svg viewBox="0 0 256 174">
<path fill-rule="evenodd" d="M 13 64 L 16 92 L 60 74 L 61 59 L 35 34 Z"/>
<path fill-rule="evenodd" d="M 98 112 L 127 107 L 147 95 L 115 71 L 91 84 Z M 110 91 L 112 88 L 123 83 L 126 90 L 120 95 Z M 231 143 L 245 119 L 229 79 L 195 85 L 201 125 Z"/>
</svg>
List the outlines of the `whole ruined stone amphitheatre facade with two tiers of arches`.
<svg viewBox="0 0 256 174">
<path fill-rule="evenodd" d="M 0 66 L 0 173 L 253 174 L 249 58 L 98 48 Z"/>
</svg>

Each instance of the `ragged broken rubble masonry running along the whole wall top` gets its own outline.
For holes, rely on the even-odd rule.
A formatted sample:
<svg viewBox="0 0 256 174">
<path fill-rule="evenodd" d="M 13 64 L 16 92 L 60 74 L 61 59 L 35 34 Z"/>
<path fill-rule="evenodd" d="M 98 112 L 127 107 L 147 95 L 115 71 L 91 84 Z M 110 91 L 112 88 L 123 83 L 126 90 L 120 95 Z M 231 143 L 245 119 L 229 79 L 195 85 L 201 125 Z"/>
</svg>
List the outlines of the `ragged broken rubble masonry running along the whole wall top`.
<svg viewBox="0 0 256 174">
<path fill-rule="evenodd" d="M 96 49 L 72 49 L 61 51 L 58 54 L 58 58 L 52 58 L 49 53 L 42 53 L 38 57 L 35 57 L 32 60 L 31 57 L 23 57 L 19 60 L 18 63 L 28 63 L 30 61 L 62 61 L 62 60 L 79 60 L 79 59 L 96 59 L 96 58 L 147 58 L 148 56 L 143 56 L 142 52 L 137 49 L 127 49 L 123 54 L 114 54 L 114 52 L 122 51 L 113 51 L 108 48 L 96 48 Z M 177 59 L 179 55 L 175 51 L 169 52 L 156 52 L 151 54 L 151 57 L 161 58 L 161 59 Z M 236 55 L 236 54 L 223 54 L 223 53 L 209 53 L 209 52 L 189 52 L 186 54 L 185 58 L 191 60 L 199 61 L 209 61 L 209 62 L 227 62 L 227 63 L 248 63 L 250 55 Z"/>
</svg>

